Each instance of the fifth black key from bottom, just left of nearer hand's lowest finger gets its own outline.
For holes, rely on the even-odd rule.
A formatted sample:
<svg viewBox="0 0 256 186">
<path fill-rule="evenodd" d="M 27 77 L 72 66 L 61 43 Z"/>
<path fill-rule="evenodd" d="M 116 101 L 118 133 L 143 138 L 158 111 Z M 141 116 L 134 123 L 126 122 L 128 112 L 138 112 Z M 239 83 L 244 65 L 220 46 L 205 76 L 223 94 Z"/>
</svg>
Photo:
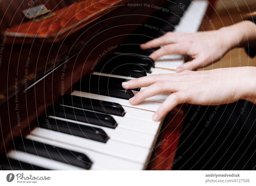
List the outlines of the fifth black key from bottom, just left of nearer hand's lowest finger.
<svg viewBox="0 0 256 186">
<path fill-rule="evenodd" d="M 60 103 L 62 105 L 73 106 L 95 112 L 110 113 L 112 115 L 121 117 L 125 115 L 124 108 L 118 103 L 91 99 L 87 97 L 79 97 L 65 94 L 60 98 Z"/>
</svg>

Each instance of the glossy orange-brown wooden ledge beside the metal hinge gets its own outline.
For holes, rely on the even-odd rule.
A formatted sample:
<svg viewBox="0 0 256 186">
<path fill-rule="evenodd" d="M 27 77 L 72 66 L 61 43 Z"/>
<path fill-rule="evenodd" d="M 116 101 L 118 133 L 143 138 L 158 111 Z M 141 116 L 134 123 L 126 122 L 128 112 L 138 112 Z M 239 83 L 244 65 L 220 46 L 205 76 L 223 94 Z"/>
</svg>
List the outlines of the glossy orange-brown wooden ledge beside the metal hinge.
<svg viewBox="0 0 256 186">
<path fill-rule="evenodd" d="M 56 42 L 118 6 L 124 5 L 125 2 L 127 0 L 74 1 L 68 6 L 53 11 L 56 15 L 42 22 L 26 21 L 11 27 L 9 35 L 25 39 L 16 39 L 16 42 L 26 42 L 26 38 L 42 38 L 45 42 Z M 12 38 L 8 40 L 8 42 L 13 41 Z"/>
</svg>

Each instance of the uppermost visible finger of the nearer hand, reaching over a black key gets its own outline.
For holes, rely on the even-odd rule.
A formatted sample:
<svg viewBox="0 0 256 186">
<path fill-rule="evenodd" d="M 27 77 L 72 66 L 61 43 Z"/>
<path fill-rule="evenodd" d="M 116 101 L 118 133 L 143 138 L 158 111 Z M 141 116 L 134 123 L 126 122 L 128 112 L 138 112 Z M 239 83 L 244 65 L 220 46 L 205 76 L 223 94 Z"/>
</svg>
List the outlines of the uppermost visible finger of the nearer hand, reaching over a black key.
<svg viewBox="0 0 256 186">
<path fill-rule="evenodd" d="M 122 86 L 124 89 L 135 89 L 139 87 L 148 87 L 157 81 L 168 80 L 170 80 L 170 74 L 154 74 L 122 82 Z"/>
</svg>

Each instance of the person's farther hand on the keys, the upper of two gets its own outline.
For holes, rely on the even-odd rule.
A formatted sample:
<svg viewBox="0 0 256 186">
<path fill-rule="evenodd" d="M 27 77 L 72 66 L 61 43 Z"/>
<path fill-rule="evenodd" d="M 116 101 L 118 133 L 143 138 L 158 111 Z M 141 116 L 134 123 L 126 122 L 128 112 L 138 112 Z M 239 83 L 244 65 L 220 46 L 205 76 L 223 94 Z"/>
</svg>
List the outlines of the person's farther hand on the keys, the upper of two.
<svg viewBox="0 0 256 186">
<path fill-rule="evenodd" d="M 141 44 L 141 49 L 156 48 L 161 45 L 160 49 L 154 51 L 150 57 L 157 58 L 167 54 L 189 55 L 192 61 L 179 66 L 176 72 L 183 70 L 196 70 L 210 65 L 221 59 L 230 49 L 247 43 L 249 39 L 255 37 L 255 25 L 251 21 L 239 22 L 229 27 L 223 27 L 213 31 L 197 33 L 177 33 L 168 32 L 165 35 Z M 254 31 L 254 32 L 253 32 Z"/>
</svg>

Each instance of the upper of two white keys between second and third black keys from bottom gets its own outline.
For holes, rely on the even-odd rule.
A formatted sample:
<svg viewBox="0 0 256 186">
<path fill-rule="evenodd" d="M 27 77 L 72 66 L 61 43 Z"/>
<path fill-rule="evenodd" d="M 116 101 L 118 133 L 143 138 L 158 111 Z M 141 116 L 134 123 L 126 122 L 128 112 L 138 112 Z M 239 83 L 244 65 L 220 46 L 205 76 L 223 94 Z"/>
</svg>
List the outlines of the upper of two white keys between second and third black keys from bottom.
<svg viewBox="0 0 256 186">
<path fill-rule="evenodd" d="M 31 135 L 42 136 L 44 138 L 59 142 L 64 140 L 64 143 L 76 147 L 81 147 L 106 155 L 127 159 L 140 164 L 145 164 L 148 160 L 149 150 L 147 148 L 119 142 L 116 140 L 109 139 L 107 143 L 101 143 L 56 131 L 49 132 L 49 129 L 44 128 L 35 128 L 31 131 Z"/>
</svg>

